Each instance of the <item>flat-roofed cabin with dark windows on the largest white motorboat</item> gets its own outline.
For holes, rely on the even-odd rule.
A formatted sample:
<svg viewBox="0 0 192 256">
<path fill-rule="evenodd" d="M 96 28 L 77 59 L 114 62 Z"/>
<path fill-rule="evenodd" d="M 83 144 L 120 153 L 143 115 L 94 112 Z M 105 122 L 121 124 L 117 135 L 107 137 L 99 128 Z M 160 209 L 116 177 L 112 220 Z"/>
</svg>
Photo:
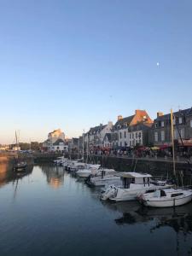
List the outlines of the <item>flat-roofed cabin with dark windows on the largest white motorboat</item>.
<svg viewBox="0 0 192 256">
<path fill-rule="evenodd" d="M 125 189 L 129 189 L 131 183 L 147 186 L 150 183 L 150 177 L 152 177 L 150 174 L 139 172 L 119 172 L 117 176 L 121 178 Z"/>
</svg>

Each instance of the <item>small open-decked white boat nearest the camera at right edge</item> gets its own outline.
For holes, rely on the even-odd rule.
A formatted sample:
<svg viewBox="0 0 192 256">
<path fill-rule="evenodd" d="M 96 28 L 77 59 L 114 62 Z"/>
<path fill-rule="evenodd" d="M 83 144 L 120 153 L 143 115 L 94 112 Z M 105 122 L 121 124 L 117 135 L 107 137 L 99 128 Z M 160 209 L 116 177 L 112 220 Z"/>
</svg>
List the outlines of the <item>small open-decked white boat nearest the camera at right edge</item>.
<svg viewBox="0 0 192 256">
<path fill-rule="evenodd" d="M 139 196 L 139 201 L 146 207 L 178 207 L 191 200 L 191 189 L 160 189 Z"/>
</svg>

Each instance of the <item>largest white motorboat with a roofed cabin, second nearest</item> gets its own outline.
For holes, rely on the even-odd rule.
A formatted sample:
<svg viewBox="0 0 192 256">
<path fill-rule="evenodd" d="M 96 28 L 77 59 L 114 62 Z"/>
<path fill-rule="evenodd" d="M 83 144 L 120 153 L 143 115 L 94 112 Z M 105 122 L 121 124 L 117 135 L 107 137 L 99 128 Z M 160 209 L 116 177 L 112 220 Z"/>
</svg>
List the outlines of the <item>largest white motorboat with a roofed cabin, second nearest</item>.
<svg viewBox="0 0 192 256">
<path fill-rule="evenodd" d="M 154 189 L 170 188 L 166 182 L 156 181 L 154 183 L 150 174 L 138 172 L 119 172 L 121 186 L 111 185 L 102 191 L 101 199 L 103 201 L 133 201 L 137 200 L 137 195 Z"/>
</svg>

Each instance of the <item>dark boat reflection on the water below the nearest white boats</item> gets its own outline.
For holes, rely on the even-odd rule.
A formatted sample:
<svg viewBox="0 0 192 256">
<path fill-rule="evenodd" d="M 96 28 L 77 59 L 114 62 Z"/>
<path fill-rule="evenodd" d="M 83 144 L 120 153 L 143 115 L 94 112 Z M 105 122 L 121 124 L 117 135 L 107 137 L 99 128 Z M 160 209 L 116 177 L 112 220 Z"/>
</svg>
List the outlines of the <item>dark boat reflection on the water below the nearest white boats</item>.
<svg viewBox="0 0 192 256">
<path fill-rule="evenodd" d="M 192 232 L 192 203 L 182 207 L 174 208 L 148 208 L 142 207 L 137 202 L 124 202 L 119 204 L 111 204 L 110 208 L 122 212 L 120 218 L 115 219 L 115 223 L 137 224 L 146 223 L 154 220 L 154 227 L 150 231 L 169 226 L 175 232 L 183 232 L 184 235 Z"/>
</svg>

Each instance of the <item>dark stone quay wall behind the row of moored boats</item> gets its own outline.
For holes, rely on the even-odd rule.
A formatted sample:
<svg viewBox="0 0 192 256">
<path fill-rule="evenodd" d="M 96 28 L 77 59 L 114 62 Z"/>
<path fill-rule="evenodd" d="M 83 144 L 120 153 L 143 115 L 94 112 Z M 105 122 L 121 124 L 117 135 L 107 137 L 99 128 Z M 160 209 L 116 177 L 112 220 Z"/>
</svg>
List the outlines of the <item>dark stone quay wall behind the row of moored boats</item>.
<svg viewBox="0 0 192 256">
<path fill-rule="evenodd" d="M 77 156 L 73 156 L 73 159 Z M 84 159 L 86 157 L 84 156 Z M 172 160 L 158 159 L 131 159 L 125 157 L 91 155 L 88 163 L 101 164 L 103 167 L 112 168 L 118 172 L 146 172 L 153 176 L 173 177 Z M 176 161 L 176 175 L 180 185 L 192 185 L 192 165 L 187 161 Z"/>
</svg>

